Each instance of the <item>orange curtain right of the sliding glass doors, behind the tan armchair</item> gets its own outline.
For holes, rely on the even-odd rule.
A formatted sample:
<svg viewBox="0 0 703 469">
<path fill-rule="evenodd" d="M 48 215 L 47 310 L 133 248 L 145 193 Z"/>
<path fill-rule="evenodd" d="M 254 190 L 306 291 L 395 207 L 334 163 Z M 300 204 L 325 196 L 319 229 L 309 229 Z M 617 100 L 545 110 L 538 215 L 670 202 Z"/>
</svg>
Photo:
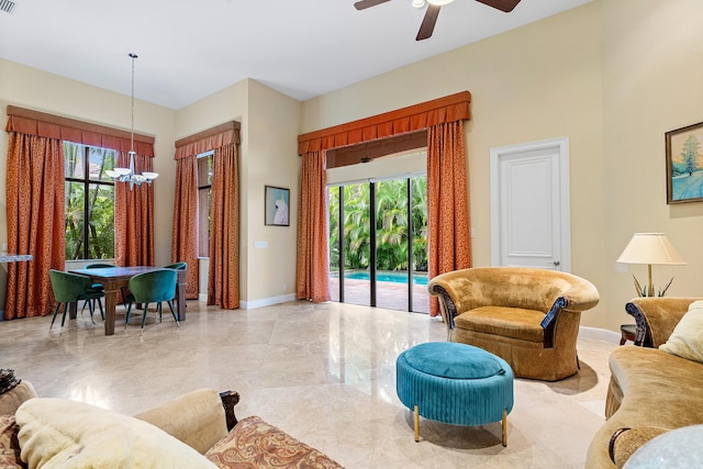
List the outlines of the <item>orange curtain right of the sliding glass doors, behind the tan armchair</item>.
<svg viewBox="0 0 703 469">
<path fill-rule="evenodd" d="M 471 267 L 464 122 L 427 129 L 427 222 L 429 278 Z M 431 297 L 429 315 L 439 314 Z"/>
</svg>

